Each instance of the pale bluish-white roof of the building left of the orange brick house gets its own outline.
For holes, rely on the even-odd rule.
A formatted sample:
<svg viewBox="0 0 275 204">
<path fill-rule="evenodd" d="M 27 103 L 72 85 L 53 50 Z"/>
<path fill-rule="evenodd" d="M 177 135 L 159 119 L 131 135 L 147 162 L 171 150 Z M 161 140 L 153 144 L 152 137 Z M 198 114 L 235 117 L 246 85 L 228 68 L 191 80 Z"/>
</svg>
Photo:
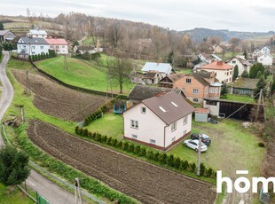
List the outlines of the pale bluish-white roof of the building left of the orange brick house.
<svg viewBox="0 0 275 204">
<path fill-rule="evenodd" d="M 143 74 L 149 71 L 159 72 L 161 75 L 171 75 L 175 73 L 173 67 L 169 63 L 157 63 L 157 62 L 146 62 L 145 66 L 141 69 Z"/>
</svg>

